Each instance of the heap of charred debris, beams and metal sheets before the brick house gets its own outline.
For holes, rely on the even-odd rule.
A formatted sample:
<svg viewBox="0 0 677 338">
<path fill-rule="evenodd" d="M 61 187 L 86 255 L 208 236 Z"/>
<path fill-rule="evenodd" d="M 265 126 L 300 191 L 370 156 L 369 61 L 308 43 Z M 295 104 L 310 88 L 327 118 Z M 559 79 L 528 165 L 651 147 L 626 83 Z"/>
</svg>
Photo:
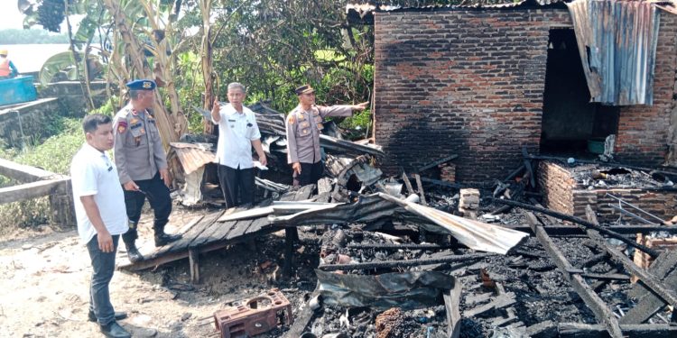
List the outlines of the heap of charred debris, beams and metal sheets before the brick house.
<svg viewBox="0 0 677 338">
<path fill-rule="evenodd" d="M 274 298 L 215 314 L 220 336 L 275 326 L 293 338 L 677 336 L 677 251 L 670 249 L 677 228 L 669 217 L 610 192 L 613 222 L 598 221 L 592 206 L 584 216 L 548 208 L 537 172 L 547 161 L 567 169 L 580 189 L 672 193 L 677 170 L 524 151 L 520 166 L 493 182 L 445 179 L 440 173 L 455 156 L 384 178 L 377 146 L 341 140 L 338 128 L 328 128 L 337 132 L 321 139 L 326 177 L 317 186 L 292 187 L 275 179 L 289 174 L 283 117 L 264 104 L 254 108 L 273 159 L 267 178 L 256 183 L 265 202 L 223 217 L 267 216 L 284 229 L 287 275 L 298 233 L 316 234 L 317 287 L 293 309 L 274 289 Z M 213 151 L 204 144 L 172 146 Z M 200 187 L 209 185 L 202 174 Z M 277 201 L 294 189 L 309 198 Z M 262 299 L 268 305 L 256 306 Z"/>
</svg>

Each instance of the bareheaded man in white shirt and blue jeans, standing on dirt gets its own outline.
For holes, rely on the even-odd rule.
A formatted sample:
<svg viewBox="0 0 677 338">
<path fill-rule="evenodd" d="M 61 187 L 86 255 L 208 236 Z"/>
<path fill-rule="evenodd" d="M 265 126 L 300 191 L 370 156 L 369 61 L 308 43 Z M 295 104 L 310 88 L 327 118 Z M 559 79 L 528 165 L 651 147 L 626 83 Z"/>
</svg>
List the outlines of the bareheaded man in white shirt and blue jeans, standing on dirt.
<svg viewBox="0 0 677 338">
<path fill-rule="evenodd" d="M 131 335 L 116 322 L 126 314 L 115 312 L 108 292 L 116 269 L 117 243 L 129 229 L 116 165 L 106 154 L 113 148 L 113 123 L 107 115 L 91 114 L 82 128 L 87 142 L 70 163 L 70 180 L 78 233 L 87 243 L 93 268 L 89 320 L 97 321 L 107 337 L 128 338 Z"/>
</svg>

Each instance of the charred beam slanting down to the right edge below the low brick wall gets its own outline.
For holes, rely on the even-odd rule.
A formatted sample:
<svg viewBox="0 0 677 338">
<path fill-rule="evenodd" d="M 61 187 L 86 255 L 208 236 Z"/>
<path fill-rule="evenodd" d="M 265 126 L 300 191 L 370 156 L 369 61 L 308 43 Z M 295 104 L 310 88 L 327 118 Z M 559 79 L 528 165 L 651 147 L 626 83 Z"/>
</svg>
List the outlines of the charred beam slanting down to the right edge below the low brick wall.
<svg viewBox="0 0 677 338">
<path fill-rule="evenodd" d="M 595 215 L 595 212 L 592 211 L 592 207 L 586 206 L 585 211 L 591 223 L 598 223 L 597 216 Z M 594 230 L 588 230 L 588 236 L 593 241 L 595 241 L 601 249 L 604 249 L 608 252 L 611 260 L 614 260 L 619 264 L 623 264 L 627 272 L 635 275 L 640 280 L 640 282 L 645 285 L 646 288 L 650 288 L 652 290 L 653 294 L 663 298 L 663 301 L 670 304 L 671 306 L 677 306 L 677 296 L 672 292 L 672 288 L 669 288 L 669 286 L 665 285 L 663 281 L 657 279 L 653 274 L 649 273 L 645 269 L 638 267 L 633 260 L 630 260 L 625 255 L 625 253 L 619 251 L 609 244 L 598 232 Z"/>
</svg>

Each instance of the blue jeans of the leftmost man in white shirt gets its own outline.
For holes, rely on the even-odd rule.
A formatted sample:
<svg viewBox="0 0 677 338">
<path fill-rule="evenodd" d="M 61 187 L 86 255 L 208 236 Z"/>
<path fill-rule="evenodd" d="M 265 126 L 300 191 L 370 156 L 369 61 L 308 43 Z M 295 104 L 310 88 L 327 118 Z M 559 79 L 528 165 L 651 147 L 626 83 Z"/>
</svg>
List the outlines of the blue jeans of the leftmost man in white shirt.
<svg viewBox="0 0 677 338">
<path fill-rule="evenodd" d="M 97 315 L 98 324 L 106 325 L 115 320 L 115 310 L 110 304 L 108 284 L 116 270 L 117 242 L 120 235 L 113 236 L 113 252 L 98 249 L 98 236 L 87 243 L 89 258 L 92 260 L 92 280 L 89 288 L 89 310 Z"/>
</svg>

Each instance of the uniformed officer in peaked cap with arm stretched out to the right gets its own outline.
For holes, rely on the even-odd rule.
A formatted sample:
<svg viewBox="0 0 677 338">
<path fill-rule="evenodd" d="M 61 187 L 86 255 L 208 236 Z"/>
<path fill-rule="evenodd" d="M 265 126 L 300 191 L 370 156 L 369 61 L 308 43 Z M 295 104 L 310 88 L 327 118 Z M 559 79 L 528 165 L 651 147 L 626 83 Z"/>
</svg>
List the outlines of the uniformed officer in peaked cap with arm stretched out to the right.
<svg viewBox="0 0 677 338">
<path fill-rule="evenodd" d="M 309 85 L 296 88 L 299 105 L 287 115 L 287 163 L 292 165 L 301 186 L 317 184 L 324 171 L 320 155 L 320 132 L 324 118 L 350 116 L 354 110 L 365 110 L 368 102 L 359 105 L 315 105 L 315 89 Z"/>
</svg>

